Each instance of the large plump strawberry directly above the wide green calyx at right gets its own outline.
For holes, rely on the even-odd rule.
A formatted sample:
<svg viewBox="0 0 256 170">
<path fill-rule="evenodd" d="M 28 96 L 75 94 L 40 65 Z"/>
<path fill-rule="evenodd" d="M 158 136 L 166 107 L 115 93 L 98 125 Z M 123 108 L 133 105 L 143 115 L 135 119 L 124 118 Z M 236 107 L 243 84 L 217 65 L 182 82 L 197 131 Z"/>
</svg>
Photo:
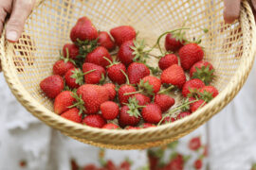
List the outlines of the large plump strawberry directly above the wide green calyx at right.
<svg viewBox="0 0 256 170">
<path fill-rule="evenodd" d="M 197 43 L 188 43 L 180 48 L 179 59 L 184 70 L 191 69 L 192 65 L 204 58 L 204 51 Z"/>
</svg>

